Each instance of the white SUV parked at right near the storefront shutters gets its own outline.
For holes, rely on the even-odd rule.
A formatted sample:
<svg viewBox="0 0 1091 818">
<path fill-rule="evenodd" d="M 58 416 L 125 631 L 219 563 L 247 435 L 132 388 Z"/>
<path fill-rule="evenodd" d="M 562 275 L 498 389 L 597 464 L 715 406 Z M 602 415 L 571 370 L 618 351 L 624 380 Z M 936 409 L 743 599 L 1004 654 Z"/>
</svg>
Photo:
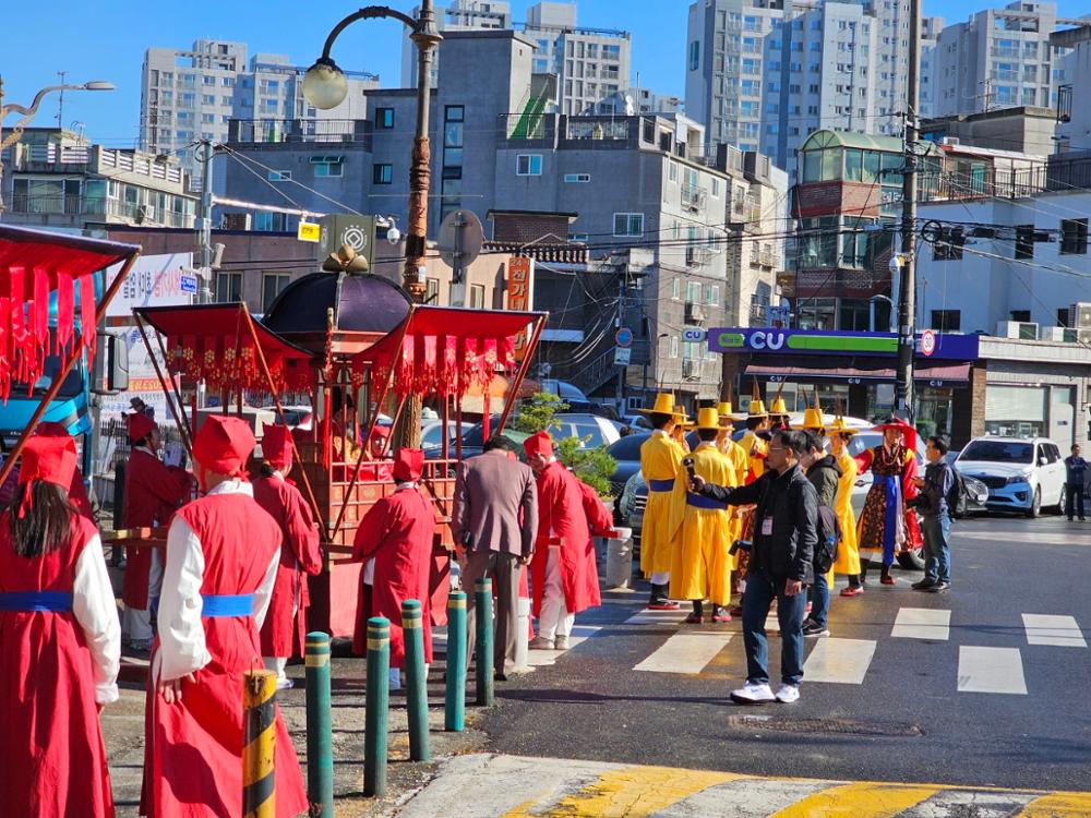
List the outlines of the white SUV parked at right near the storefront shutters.
<svg viewBox="0 0 1091 818">
<path fill-rule="evenodd" d="M 988 486 L 986 508 L 1038 517 L 1042 508 L 1058 514 L 1065 502 L 1065 461 L 1044 437 L 986 435 L 959 453 L 955 468 Z"/>
</svg>

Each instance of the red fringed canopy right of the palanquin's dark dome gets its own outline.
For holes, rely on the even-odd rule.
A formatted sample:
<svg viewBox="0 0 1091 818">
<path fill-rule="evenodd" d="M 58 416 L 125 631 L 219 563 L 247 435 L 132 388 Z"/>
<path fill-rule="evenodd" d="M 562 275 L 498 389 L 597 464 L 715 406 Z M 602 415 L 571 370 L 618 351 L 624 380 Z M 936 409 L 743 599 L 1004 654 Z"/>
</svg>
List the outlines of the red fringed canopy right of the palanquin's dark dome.
<svg viewBox="0 0 1091 818">
<path fill-rule="evenodd" d="M 394 390 L 461 398 L 473 384 L 516 369 L 515 338 L 544 313 L 415 306 L 389 335 L 352 357 L 361 378 L 372 369 L 383 382 L 395 368 Z"/>
</svg>

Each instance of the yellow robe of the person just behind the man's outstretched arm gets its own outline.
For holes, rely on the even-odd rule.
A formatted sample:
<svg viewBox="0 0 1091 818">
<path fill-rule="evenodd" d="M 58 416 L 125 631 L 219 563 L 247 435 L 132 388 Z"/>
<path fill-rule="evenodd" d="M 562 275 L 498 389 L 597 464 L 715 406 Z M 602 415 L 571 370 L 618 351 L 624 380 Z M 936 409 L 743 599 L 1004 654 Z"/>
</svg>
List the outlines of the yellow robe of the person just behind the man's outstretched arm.
<svg viewBox="0 0 1091 818">
<path fill-rule="evenodd" d="M 735 470 L 715 443 L 703 443 L 691 455 L 694 470 L 707 482 L 734 485 Z M 731 599 L 731 572 L 735 558 L 731 548 L 731 513 L 727 508 L 698 508 L 686 502 L 685 467 L 679 470 L 671 494 L 671 525 L 679 531 L 671 560 L 672 599 L 710 599 L 727 604 Z"/>
</svg>

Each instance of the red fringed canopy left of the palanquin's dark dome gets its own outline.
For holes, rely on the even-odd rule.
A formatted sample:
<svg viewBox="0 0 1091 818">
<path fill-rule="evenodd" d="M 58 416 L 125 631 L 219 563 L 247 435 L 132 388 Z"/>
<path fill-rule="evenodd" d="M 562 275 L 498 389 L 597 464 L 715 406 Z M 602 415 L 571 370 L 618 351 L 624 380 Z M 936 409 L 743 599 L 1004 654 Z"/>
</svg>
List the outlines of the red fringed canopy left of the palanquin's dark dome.
<svg viewBox="0 0 1091 818">
<path fill-rule="evenodd" d="M 213 389 L 302 390 L 311 382 L 311 353 L 271 332 L 243 303 L 144 306 L 134 312 L 167 338 L 170 372 L 203 378 Z M 257 360 L 255 336 L 272 384 Z"/>
</svg>

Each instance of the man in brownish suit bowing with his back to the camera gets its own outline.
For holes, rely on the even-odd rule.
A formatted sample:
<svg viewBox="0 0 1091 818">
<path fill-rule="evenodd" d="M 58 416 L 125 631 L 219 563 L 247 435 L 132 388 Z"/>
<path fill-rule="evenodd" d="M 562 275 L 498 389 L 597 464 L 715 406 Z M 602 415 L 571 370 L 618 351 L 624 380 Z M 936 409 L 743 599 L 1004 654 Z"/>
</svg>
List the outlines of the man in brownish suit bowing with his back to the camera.
<svg viewBox="0 0 1091 818">
<path fill-rule="evenodd" d="M 506 437 L 493 435 L 482 455 L 458 465 L 451 529 L 466 589 L 467 663 L 476 636 L 473 584 L 489 577 L 496 592 L 494 667 L 506 681 L 505 661 L 515 659 L 519 629 L 519 572 L 533 556 L 538 532 L 535 474 Z"/>
</svg>

